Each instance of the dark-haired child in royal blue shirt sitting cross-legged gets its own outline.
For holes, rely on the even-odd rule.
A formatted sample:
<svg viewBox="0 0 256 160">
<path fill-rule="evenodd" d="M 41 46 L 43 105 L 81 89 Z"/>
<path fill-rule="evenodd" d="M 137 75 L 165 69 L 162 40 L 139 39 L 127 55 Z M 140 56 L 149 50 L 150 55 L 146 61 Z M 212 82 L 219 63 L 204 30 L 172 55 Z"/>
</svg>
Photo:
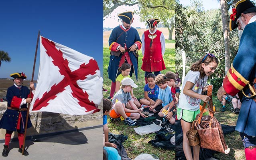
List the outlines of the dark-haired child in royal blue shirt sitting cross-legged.
<svg viewBox="0 0 256 160">
<path fill-rule="evenodd" d="M 148 74 L 146 80 L 148 84 L 144 86 L 144 98 L 140 99 L 140 103 L 146 106 L 153 106 L 159 94 L 159 87 L 155 84 L 156 76 L 152 73 Z"/>
</svg>

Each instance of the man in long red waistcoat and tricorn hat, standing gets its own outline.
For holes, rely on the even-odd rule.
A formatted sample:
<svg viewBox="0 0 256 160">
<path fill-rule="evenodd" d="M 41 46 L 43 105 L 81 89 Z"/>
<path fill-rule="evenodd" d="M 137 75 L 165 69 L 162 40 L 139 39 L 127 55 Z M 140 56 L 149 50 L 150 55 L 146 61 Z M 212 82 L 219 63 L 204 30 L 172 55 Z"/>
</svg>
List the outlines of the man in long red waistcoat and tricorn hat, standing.
<svg viewBox="0 0 256 160">
<path fill-rule="evenodd" d="M 165 70 L 163 55 L 165 53 L 165 36 L 157 30 L 157 24 L 160 22 L 157 18 L 146 20 L 149 29 L 142 34 L 142 66 L 145 71 L 145 83 L 147 75 L 154 72 L 154 75 L 161 74 L 161 70 Z"/>
</svg>

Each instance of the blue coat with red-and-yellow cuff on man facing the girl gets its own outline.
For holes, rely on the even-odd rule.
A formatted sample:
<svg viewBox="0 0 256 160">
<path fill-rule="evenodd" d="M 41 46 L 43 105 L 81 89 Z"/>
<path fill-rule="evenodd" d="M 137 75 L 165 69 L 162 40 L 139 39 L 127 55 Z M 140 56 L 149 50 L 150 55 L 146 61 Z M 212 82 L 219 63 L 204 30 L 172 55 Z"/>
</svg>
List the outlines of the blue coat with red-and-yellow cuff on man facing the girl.
<svg viewBox="0 0 256 160">
<path fill-rule="evenodd" d="M 254 82 L 256 77 L 256 22 L 247 24 L 244 28 L 239 49 L 232 67 L 223 80 L 223 87 L 230 95 L 237 94 L 248 82 Z M 256 85 L 254 84 L 256 87 Z M 249 94 L 249 89 L 245 90 Z M 255 97 L 254 97 L 255 98 Z M 252 98 L 242 99 L 242 106 L 236 123 L 236 130 L 256 136 L 256 102 Z"/>
</svg>

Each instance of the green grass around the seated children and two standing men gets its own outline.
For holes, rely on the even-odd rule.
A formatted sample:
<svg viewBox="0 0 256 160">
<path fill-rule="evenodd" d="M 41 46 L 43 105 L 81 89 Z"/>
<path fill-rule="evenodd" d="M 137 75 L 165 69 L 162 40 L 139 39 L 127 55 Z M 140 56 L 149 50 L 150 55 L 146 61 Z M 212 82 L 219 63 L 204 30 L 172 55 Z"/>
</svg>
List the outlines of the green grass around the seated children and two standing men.
<svg viewBox="0 0 256 160">
<path fill-rule="evenodd" d="M 173 43 L 175 41 L 168 41 L 167 43 Z M 172 44 L 173 45 L 173 44 Z M 174 45 L 173 45 L 174 46 Z M 140 69 L 142 65 L 142 52 L 139 50 L 139 58 L 138 58 L 138 65 L 139 65 L 139 72 L 138 72 L 138 81 L 135 80 L 134 75 L 132 79 L 138 85 L 138 88 L 134 89 L 134 95 L 137 98 L 144 97 L 144 85 L 145 85 L 145 78 L 144 78 L 144 71 Z M 110 87 L 111 87 L 111 80 L 108 78 L 108 64 L 110 60 L 110 50 L 108 48 L 103 48 L 103 87 L 108 90 L 108 92 L 104 92 L 104 98 L 107 98 L 110 95 Z M 166 70 L 161 71 L 165 74 L 167 71 L 175 72 L 175 48 L 166 48 L 165 55 L 163 56 Z M 108 121 L 110 120 L 108 116 Z M 128 140 L 126 140 L 123 145 L 126 149 L 128 157 L 134 159 L 136 156 L 142 153 L 154 154 L 158 156 L 160 160 L 173 160 L 175 159 L 175 151 L 174 150 L 164 150 L 161 148 L 156 148 L 151 144 L 148 144 L 148 141 L 153 140 L 156 136 L 155 133 L 147 134 L 144 136 L 140 136 L 136 134 L 133 127 L 127 126 L 124 122 L 109 122 L 108 127 L 110 132 L 114 134 L 124 134 L 128 136 Z M 172 133 L 173 134 L 173 133 Z"/>
</svg>

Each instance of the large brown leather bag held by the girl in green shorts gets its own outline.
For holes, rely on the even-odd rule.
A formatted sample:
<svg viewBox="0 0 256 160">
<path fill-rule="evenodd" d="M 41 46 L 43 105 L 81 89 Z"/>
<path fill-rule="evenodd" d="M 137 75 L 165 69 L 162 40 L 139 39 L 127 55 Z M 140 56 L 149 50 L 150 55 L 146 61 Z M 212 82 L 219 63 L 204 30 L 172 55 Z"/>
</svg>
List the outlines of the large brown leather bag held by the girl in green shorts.
<svg viewBox="0 0 256 160">
<path fill-rule="evenodd" d="M 207 96 L 211 97 L 211 92 L 212 86 L 209 86 Z M 200 114 L 197 114 L 196 120 L 194 120 L 192 124 L 193 128 L 195 128 L 199 134 L 200 145 L 202 148 L 228 154 L 230 148 L 228 148 L 228 145 L 226 144 L 220 123 L 214 117 L 212 98 L 209 101 L 209 104 L 207 104 L 209 108 L 209 116 L 203 116 L 205 106 L 206 103 L 204 102 Z"/>
</svg>

